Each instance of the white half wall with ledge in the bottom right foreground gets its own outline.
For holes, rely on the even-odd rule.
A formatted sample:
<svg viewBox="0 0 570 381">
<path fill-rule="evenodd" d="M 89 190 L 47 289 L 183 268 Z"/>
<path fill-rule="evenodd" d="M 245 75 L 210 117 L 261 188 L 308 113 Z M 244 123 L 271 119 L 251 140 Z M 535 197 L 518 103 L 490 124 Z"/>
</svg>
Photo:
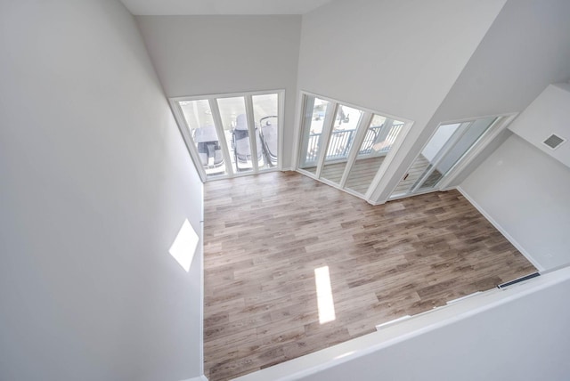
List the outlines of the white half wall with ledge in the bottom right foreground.
<svg viewBox="0 0 570 381">
<path fill-rule="evenodd" d="M 487 292 L 240 381 L 564 381 L 570 269 Z"/>
</svg>

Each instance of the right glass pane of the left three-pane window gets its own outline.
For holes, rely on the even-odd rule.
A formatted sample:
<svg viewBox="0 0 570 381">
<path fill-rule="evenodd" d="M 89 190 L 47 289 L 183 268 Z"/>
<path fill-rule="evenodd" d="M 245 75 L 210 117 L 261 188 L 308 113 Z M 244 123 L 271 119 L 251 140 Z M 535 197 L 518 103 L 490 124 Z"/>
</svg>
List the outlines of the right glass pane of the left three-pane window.
<svg viewBox="0 0 570 381">
<path fill-rule="evenodd" d="M 265 158 L 264 168 L 271 168 L 278 165 L 279 157 L 279 97 L 278 94 L 253 95 L 253 116 L 256 119 L 256 128 L 261 142 Z M 259 151 L 258 151 L 259 152 Z M 259 166 L 259 169 L 262 169 Z"/>
</svg>

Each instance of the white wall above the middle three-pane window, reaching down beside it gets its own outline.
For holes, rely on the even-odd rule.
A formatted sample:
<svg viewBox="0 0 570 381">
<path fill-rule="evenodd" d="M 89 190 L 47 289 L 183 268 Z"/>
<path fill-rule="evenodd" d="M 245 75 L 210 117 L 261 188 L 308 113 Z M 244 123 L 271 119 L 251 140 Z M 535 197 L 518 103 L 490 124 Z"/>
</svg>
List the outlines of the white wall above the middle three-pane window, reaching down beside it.
<svg viewBox="0 0 570 381">
<path fill-rule="evenodd" d="M 300 90 L 415 121 L 381 189 L 391 183 L 504 3 L 333 1 L 303 16 Z"/>
</svg>

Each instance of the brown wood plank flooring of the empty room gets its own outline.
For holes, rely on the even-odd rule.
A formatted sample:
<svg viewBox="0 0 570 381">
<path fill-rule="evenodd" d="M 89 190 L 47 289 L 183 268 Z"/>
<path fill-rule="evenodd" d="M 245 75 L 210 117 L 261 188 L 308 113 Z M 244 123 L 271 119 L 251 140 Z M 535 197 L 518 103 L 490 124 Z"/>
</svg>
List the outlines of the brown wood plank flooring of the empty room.
<svg viewBox="0 0 570 381">
<path fill-rule="evenodd" d="M 204 241 L 210 381 L 535 271 L 455 190 L 373 207 L 294 172 L 207 182 Z M 336 313 L 325 324 L 314 280 L 322 266 Z"/>
</svg>

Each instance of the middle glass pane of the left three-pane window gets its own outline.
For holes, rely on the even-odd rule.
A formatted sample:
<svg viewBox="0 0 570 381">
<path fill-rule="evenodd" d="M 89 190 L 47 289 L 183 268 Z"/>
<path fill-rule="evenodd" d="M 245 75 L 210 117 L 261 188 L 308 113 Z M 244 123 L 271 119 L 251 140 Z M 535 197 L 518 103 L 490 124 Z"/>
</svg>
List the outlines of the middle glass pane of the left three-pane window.
<svg viewBox="0 0 570 381">
<path fill-rule="evenodd" d="M 224 138 L 230 150 L 235 173 L 251 171 L 253 162 L 245 99 L 243 97 L 220 98 L 217 100 L 217 105 L 220 109 Z M 259 150 L 259 156 L 261 156 L 261 150 Z M 263 162 L 261 165 L 263 166 Z"/>
</svg>

